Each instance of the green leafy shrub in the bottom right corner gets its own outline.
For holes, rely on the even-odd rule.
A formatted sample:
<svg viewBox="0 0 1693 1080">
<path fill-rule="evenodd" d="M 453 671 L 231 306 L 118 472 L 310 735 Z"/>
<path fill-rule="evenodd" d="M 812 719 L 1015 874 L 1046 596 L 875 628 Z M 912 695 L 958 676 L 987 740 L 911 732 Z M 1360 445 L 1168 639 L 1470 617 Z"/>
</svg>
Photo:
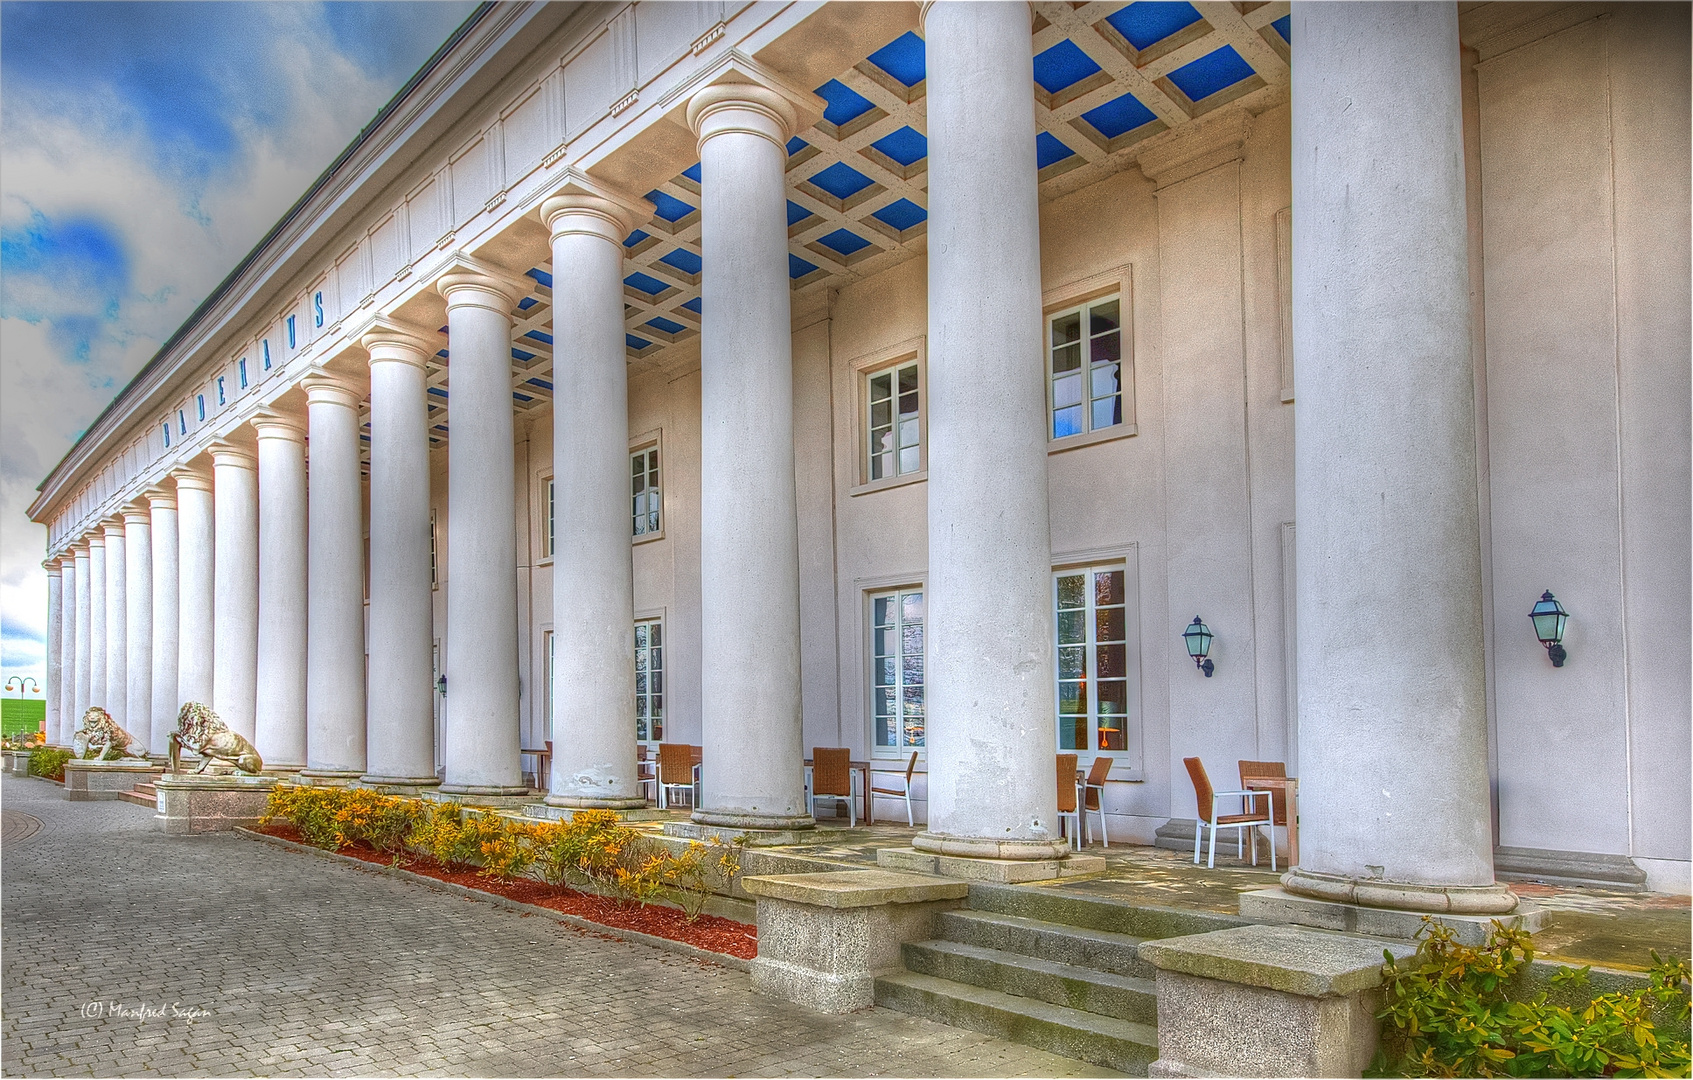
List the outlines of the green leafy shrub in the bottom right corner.
<svg viewBox="0 0 1693 1080">
<path fill-rule="evenodd" d="M 1519 972 L 1534 960 L 1529 934 L 1493 923 L 1481 948 L 1424 919 L 1417 955 L 1405 967 L 1387 956 L 1381 1051 L 1371 1077 L 1686 1077 L 1685 1038 L 1657 1038 L 1661 1022 L 1688 1021 L 1688 962 L 1652 953 L 1651 985 L 1600 994 L 1576 1011 L 1546 994 L 1510 1000 Z M 1554 984 L 1585 984 L 1569 968 Z"/>
</svg>

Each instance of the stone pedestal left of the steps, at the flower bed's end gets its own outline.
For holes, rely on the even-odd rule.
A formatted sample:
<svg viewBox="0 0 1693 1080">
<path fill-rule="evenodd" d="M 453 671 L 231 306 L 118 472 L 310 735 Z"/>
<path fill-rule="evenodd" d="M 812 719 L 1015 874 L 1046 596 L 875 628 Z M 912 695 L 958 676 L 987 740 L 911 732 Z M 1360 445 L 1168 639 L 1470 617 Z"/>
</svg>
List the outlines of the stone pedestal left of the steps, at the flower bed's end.
<svg viewBox="0 0 1693 1080">
<path fill-rule="evenodd" d="M 841 870 L 742 880 L 758 901 L 752 985 L 818 1012 L 875 1004 L 875 977 L 902 968 L 899 946 L 935 936 L 935 916 L 963 904 L 960 880 Z"/>
</svg>

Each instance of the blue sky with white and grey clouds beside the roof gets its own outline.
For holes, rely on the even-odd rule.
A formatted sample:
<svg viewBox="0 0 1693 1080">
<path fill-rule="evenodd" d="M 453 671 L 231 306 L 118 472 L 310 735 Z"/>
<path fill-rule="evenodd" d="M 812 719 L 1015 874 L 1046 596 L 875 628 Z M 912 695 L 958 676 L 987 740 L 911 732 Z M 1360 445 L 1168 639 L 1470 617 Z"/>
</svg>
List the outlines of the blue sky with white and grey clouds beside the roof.
<svg viewBox="0 0 1693 1080">
<path fill-rule="evenodd" d="M 472 8 L 0 3 L 0 674 L 44 679 L 36 486 Z"/>
</svg>

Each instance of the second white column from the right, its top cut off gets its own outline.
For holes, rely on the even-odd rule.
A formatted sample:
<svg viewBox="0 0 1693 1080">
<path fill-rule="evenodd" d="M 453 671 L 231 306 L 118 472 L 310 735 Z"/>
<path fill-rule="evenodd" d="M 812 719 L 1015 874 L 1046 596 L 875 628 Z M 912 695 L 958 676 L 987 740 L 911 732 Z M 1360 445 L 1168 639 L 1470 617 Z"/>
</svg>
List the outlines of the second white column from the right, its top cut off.
<svg viewBox="0 0 1693 1080">
<path fill-rule="evenodd" d="M 929 823 L 924 851 L 1051 858 L 1051 540 L 1026 3 L 924 7 Z"/>
</svg>

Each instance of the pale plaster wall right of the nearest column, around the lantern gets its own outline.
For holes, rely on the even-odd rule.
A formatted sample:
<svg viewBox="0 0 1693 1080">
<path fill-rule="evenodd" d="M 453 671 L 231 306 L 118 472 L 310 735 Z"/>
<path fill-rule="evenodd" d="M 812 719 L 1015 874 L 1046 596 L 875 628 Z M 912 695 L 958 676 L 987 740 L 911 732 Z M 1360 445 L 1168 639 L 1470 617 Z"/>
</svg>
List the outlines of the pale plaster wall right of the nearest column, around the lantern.
<svg viewBox="0 0 1693 1080">
<path fill-rule="evenodd" d="M 1510 846 L 1688 860 L 1686 39 L 1685 5 L 1627 5 L 1478 68 Z"/>
</svg>

